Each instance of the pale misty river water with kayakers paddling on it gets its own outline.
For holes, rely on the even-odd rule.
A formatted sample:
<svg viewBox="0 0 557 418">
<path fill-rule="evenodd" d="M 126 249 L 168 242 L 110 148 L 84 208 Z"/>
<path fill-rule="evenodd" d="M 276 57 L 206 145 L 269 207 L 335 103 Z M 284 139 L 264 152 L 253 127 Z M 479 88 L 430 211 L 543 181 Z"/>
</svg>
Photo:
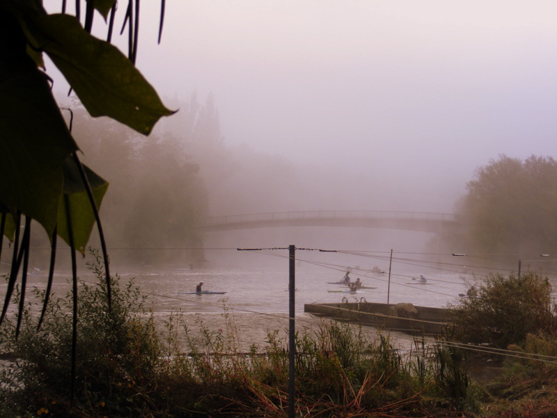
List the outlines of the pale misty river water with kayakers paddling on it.
<svg viewBox="0 0 557 418">
<path fill-rule="evenodd" d="M 297 259 L 295 262 L 295 312 L 297 328 L 312 328 L 318 325 L 317 318 L 304 313 L 304 304 L 332 302 L 409 302 L 425 307 L 446 307 L 455 303 L 460 295 L 466 293 L 467 285 L 473 278 L 482 276 L 485 271 L 465 268 L 462 265 L 435 263 L 419 260 L 397 261 L 391 265 L 389 260 L 379 261 L 379 270 L 374 272 L 374 261 L 363 267 L 331 264 L 317 259 Z M 339 281 L 345 270 L 351 270 L 351 278 L 360 278 L 363 288 L 350 293 L 347 288 L 329 284 Z M 241 348 L 247 349 L 251 343 L 264 343 L 267 332 L 288 329 L 290 261 L 281 258 L 278 263 L 266 266 L 246 263 L 243 267 L 205 267 L 193 268 L 189 265 L 162 266 L 143 265 L 118 270 L 111 266 L 113 274 L 119 274 L 125 283 L 134 278 L 141 291 L 148 296 L 147 307 L 152 315 L 163 324 L 171 314 L 180 312 L 190 329 L 198 327 L 199 322 L 214 332 L 226 327 L 228 317 L 233 316 L 237 327 Z M 28 286 L 45 288 L 45 272 L 33 270 Z M 417 280 L 423 274 L 426 284 Z M 65 294 L 70 288 L 69 274 L 57 274 L 54 279 L 54 292 Z M 85 281 L 96 281 L 91 272 L 83 270 L 79 277 Z M 195 291 L 196 284 L 203 281 L 203 290 L 226 292 L 222 295 L 189 295 Z M 6 286 L 0 289 L 3 298 Z M 345 291 L 345 292 L 343 292 Z M 14 311 L 11 307 L 10 311 Z"/>
</svg>

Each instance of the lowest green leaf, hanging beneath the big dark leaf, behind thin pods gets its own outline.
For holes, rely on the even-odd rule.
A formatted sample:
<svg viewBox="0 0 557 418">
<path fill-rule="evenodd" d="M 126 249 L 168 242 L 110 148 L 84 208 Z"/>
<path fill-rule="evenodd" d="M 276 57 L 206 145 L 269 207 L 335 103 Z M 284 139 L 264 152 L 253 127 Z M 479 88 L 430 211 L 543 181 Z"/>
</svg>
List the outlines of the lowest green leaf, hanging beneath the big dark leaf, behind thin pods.
<svg viewBox="0 0 557 418">
<path fill-rule="evenodd" d="M 68 157 L 68 159 L 65 160 L 63 169 L 64 188 L 58 209 L 57 233 L 70 245 L 68 215 L 66 213 L 68 209 L 71 219 L 74 249 L 77 249 L 83 254 L 89 237 L 91 236 L 93 226 L 95 225 L 95 213 L 93 212 L 93 208 L 91 208 L 91 201 L 89 201 L 83 180 L 81 180 L 77 165 L 72 157 Z M 102 198 L 107 192 L 109 183 L 95 174 L 91 169 L 88 169 L 88 167 L 84 166 L 84 169 L 88 183 L 91 185 L 95 203 L 97 208 L 99 208 Z"/>
</svg>

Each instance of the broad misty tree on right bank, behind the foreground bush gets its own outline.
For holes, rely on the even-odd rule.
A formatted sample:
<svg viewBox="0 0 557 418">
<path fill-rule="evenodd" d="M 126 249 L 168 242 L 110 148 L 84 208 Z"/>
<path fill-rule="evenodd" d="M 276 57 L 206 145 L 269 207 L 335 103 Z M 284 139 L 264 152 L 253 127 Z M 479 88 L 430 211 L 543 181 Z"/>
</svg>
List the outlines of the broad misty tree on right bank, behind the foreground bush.
<svg viewBox="0 0 557 418">
<path fill-rule="evenodd" d="M 501 155 L 480 167 L 460 212 L 469 245 L 483 254 L 549 251 L 557 245 L 557 162 Z"/>
</svg>

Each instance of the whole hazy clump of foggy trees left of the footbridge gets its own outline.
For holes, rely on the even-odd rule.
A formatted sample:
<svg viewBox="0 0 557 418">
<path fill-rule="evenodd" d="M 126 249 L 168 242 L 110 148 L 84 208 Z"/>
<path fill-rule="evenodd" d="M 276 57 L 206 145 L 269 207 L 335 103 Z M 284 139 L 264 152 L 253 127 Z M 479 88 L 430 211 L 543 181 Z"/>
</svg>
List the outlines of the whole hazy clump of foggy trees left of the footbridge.
<svg viewBox="0 0 557 418">
<path fill-rule="evenodd" d="M 199 261 L 200 251 L 178 250 L 200 247 L 195 226 L 207 210 L 198 164 L 186 152 L 185 141 L 170 134 L 147 141 L 113 121 L 93 124 L 84 112 L 77 115 L 74 132 L 84 159 L 111 178 L 102 215 L 111 247 L 120 248 L 113 258 Z"/>
</svg>

